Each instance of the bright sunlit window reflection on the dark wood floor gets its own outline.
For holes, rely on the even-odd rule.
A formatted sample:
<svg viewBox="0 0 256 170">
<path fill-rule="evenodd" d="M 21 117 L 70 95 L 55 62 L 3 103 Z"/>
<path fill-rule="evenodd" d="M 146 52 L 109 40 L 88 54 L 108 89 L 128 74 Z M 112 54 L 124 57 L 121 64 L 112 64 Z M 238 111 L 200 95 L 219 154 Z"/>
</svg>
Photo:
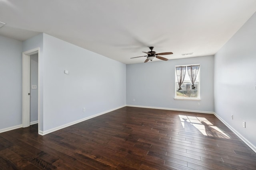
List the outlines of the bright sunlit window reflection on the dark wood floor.
<svg viewBox="0 0 256 170">
<path fill-rule="evenodd" d="M 224 133 L 220 128 L 214 126 L 205 117 L 179 115 L 183 128 L 196 128 L 205 136 L 219 137 L 230 139 L 230 137 Z"/>
</svg>

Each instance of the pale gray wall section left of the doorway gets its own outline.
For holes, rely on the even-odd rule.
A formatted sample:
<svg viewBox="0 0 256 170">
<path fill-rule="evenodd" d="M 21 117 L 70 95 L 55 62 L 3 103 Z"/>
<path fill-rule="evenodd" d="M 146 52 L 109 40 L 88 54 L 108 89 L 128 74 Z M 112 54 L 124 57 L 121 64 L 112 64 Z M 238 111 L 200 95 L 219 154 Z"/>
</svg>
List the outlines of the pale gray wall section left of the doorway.
<svg viewBox="0 0 256 170">
<path fill-rule="evenodd" d="M 22 124 L 22 42 L 0 35 L 0 129 Z"/>
</svg>

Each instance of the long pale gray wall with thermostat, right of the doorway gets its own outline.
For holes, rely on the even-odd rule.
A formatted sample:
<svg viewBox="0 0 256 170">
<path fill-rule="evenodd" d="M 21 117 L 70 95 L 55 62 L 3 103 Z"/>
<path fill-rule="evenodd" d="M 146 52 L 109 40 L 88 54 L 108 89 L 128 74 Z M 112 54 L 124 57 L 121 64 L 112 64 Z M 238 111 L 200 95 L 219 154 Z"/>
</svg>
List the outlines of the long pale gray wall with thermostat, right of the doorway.
<svg viewBox="0 0 256 170">
<path fill-rule="evenodd" d="M 43 57 L 44 131 L 126 104 L 125 64 L 47 34 Z"/>
</svg>

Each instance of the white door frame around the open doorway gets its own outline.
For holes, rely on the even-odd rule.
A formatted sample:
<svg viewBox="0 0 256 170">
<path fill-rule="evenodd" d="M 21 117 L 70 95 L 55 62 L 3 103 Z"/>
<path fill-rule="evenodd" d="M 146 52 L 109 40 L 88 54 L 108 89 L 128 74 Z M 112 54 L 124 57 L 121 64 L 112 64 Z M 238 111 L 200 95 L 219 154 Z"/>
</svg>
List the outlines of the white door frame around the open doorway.
<svg viewBox="0 0 256 170">
<path fill-rule="evenodd" d="M 40 127 L 40 48 L 22 53 L 22 127 L 30 126 L 30 55 L 38 53 L 38 132 Z"/>
</svg>

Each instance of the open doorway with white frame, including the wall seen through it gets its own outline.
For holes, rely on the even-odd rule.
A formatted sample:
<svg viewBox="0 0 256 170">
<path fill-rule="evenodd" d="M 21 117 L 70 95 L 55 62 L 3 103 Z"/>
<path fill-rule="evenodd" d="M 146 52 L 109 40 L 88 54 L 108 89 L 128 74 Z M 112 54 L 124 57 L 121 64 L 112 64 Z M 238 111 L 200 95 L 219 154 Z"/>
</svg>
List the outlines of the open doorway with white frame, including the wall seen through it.
<svg viewBox="0 0 256 170">
<path fill-rule="evenodd" d="M 38 132 L 40 127 L 39 66 L 39 48 L 22 53 L 22 127 L 38 123 Z"/>
</svg>

